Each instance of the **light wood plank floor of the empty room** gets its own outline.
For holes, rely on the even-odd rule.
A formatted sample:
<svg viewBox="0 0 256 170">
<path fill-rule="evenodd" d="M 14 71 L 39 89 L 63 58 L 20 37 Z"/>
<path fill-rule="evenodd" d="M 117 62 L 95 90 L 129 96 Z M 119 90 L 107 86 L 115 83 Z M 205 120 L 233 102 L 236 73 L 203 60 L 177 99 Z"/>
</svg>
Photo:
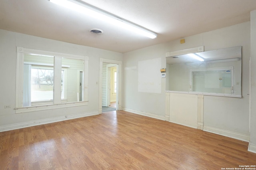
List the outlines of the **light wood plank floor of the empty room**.
<svg viewBox="0 0 256 170">
<path fill-rule="evenodd" d="M 248 142 L 125 111 L 0 132 L 1 170 L 221 170 L 255 165 Z"/>
</svg>

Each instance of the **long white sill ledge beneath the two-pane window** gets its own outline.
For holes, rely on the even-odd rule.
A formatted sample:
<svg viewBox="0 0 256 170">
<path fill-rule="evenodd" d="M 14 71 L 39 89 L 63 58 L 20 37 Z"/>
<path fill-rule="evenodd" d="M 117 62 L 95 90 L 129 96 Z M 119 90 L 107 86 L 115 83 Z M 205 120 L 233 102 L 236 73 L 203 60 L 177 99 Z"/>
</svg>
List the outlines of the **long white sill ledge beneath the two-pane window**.
<svg viewBox="0 0 256 170">
<path fill-rule="evenodd" d="M 45 111 L 45 110 L 51 110 L 51 109 L 62 109 L 67 107 L 77 107 L 77 106 L 85 106 L 85 105 L 88 105 L 88 101 L 20 107 L 20 108 L 15 108 L 15 110 L 16 110 L 16 113 L 27 113 L 27 112 L 34 112 L 34 111 Z"/>
</svg>

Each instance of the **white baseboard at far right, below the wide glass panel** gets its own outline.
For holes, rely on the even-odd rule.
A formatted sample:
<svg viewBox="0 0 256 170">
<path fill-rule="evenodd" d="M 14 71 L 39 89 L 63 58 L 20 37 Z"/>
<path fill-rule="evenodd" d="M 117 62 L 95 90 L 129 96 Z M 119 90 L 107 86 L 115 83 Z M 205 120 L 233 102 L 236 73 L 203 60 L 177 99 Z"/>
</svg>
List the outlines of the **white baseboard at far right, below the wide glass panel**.
<svg viewBox="0 0 256 170">
<path fill-rule="evenodd" d="M 243 140 L 243 141 L 246 141 L 246 142 L 250 141 L 250 135 L 249 134 L 238 133 L 238 132 L 225 130 L 225 129 L 221 129 L 221 128 L 216 128 L 216 127 L 210 127 L 210 126 L 206 126 L 206 125 L 204 125 L 203 130 L 206 131 L 206 132 L 220 134 L 222 136 L 227 136 L 227 137 L 230 137 L 230 138 L 235 138 L 235 139 Z"/>
</svg>

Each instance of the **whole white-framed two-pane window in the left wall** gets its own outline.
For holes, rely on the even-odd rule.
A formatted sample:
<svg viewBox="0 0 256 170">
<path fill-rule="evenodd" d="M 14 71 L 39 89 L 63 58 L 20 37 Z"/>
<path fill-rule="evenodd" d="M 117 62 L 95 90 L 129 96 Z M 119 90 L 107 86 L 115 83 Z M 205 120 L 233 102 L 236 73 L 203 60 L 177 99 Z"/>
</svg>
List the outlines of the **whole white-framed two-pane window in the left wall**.
<svg viewBox="0 0 256 170">
<path fill-rule="evenodd" d="M 16 113 L 86 105 L 87 69 L 85 56 L 17 47 Z"/>
</svg>

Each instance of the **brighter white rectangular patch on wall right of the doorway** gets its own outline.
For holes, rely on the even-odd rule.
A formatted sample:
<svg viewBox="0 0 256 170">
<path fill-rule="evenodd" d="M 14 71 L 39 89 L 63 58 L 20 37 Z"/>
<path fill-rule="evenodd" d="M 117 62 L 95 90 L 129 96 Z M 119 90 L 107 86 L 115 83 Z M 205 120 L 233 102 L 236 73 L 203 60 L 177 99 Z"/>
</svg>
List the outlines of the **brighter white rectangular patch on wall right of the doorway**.
<svg viewBox="0 0 256 170">
<path fill-rule="evenodd" d="M 138 62 L 138 92 L 161 93 L 161 58 Z"/>
</svg>

